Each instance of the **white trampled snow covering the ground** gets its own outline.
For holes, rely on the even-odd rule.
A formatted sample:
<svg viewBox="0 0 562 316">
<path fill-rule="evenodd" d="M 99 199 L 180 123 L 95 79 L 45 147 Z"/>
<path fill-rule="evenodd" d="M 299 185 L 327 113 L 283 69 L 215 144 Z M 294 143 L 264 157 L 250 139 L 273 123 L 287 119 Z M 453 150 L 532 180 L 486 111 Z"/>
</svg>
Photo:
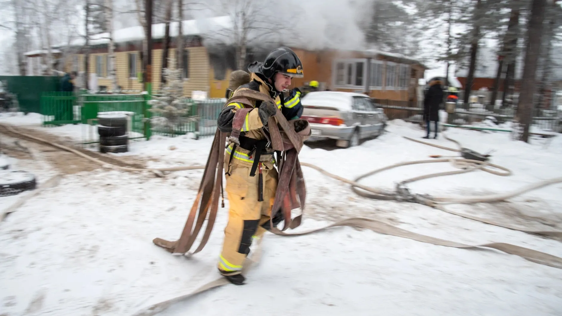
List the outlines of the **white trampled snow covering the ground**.
<svg viewBox="0 0 562 316">
<path fill-rule="evenodd" d="M 30 124 L 19 120 L 0 118 L 20 126 Z M 70 136 L 81 126 L 36 128 Z M 423 136 L 424 131 L 411 123 L 391 121 L 387 131 L 355 148 L 305 146 L 300 160 L 353 179 L 389 164 L 430 159 L 433 154 L 455 155 L 402 138 Z M 544 140 L 511 141 L 505 132 L 453 129 L 447 135 L 477 152 L 496 150 L 492 163 L 509 168 L 513 175 L 475 171 L 430 178 L 410 184 L 414 193 L 500 193 L 562 175 L 560 137 L 545 146 Z M 443 138 L 429 141 L 454 147 Z M 204 164 L 210 145 L 210 138 L 155 136 L 132 142 L 129 153 L 115 155 L 138 155 L 151 167 Z M 36 173 L 39 180 L 54 172 L 29 160 L 15 164 Z M 407 178 L 451 170 L 455 169 L 448 163 L 420 164 L 386 171 L 362 183 L 392 189 Z M 562 257 L 559 241 L 418 204 L 367 200 L 315 170 L 303 167 L 303 172 L 308 216 L 302 229 L 367 217 L 466 244 L 509 242 Z M 201 175 L 196 170 L 158 178 L 100 169 L 67 175 L 58 186 L 27 201 L 0 223 L 0 315 L 132 315 L 214 280 L 226 209 L 220 209 L 209 244 L 192 258 L 175 257 L 152 244 L 154 237 L 179 236 Z M 449 208 L 560 231 L 561 193 L 558 184 L 509 203 Z M 3 199 L 2 208 L 9 204 Z M 247 275 L 247 285 L 212 290 L 161 315 L 542 316 L 560 315 L 562 310 L 561 269 L 498 251 L 446 248 L 352 228 L 293 238 L 268 233 L 263 246 L 262 261 Z"/>
</svg>

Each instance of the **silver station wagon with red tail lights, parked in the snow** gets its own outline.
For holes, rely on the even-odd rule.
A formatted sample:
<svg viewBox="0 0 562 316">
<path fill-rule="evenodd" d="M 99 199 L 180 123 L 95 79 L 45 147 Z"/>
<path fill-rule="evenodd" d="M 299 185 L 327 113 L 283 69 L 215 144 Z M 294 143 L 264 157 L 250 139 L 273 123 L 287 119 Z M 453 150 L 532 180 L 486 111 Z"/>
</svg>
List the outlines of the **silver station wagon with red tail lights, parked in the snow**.
<svg viewBox="0 0 562 316">
<path fill-rule="evenodd" d="M 302 119 L 310 123 L 311 140 L 336 139 L 339 147 L 383 133 L 388 118 L 366 94 L 316 91 L 301 99 Z"/>
</svg>

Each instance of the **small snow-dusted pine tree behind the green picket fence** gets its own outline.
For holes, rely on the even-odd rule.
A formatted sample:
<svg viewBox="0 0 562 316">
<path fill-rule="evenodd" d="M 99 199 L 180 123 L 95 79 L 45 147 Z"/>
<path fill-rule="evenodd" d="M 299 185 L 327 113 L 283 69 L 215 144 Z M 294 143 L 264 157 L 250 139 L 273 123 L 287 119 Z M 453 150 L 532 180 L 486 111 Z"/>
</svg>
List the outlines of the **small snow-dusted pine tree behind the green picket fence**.
<svg viewBox="0 0 562 316">
<path fill-rule="evenodd" d="M 152 107 L 149 111 L 155 113 L 151 120 L 153 125 L 164 128 L 173 135 L 176 127 L 195 122 L 198 117 L 190 115 L 192 105 L 183 97 L 182 70 L 164 68 L 164 76 L 166 86 L 160 97 L 148 101 Z"/>
</svg>

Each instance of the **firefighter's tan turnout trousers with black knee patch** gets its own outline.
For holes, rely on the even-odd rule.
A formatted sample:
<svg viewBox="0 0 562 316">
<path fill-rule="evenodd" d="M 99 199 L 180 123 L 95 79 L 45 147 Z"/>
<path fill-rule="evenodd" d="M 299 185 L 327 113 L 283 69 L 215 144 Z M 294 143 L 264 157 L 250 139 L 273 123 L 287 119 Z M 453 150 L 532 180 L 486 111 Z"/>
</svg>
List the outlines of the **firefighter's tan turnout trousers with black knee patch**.
<svg viewBox="0 0 562 316">
<path fill-rule="evenodd" d="M 236 147 L 233 153 L 232 147 L 231 144 L 226 149 L 224 158 L 224 170 L 227 172 L 225 190 L 230 209 L 218 265 L 220 273 L 225 276 L 241 273 L 244 259 L 250 252 L 252 239 L 260 238 L 266 231 L 261 225 L 269 222 L 278 182 L 273 155 L 261 155 L 264 200 L 258 201 L 260 168 L 256 175 L 251 177 L 253 159 L 248 155 L 248 150 Z M 229 166 L 231 154 L 233 159 Z"/>
</svg>

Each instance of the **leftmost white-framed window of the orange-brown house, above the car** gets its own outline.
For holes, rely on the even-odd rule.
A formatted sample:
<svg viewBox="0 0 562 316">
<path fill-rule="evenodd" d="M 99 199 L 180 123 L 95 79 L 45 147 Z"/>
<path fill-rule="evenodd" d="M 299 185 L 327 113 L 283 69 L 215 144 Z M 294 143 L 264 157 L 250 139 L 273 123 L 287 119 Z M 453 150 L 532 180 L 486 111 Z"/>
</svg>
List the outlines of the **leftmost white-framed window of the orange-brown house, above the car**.
<svg viewBox="0 0 562 316">
<path fill-rule="evenodd" d="M 335 86 L 342 88 L 362 88 L 365 85 L 365 59 L 340 59 L 334 62 L 332 69 Z"/>
</svg>

